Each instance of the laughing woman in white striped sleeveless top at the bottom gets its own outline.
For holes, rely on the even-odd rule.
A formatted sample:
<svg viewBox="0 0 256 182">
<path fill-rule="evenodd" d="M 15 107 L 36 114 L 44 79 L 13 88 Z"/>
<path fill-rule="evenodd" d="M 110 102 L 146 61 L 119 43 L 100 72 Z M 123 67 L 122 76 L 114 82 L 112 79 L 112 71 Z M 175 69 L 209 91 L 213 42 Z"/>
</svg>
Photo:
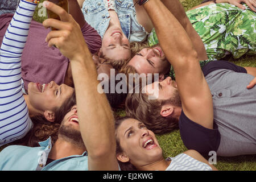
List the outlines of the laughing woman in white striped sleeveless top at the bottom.
<svg viewBox="0 0 256 182">
<path fill-rule="evenodd" d="M 136 119 L 123 117 L 115 121 L 117 159 L 122 170 L 212 171 L 217 170 L 194 150 L 174 158 L 163 158 L 155 134 Z"/>
</svg>

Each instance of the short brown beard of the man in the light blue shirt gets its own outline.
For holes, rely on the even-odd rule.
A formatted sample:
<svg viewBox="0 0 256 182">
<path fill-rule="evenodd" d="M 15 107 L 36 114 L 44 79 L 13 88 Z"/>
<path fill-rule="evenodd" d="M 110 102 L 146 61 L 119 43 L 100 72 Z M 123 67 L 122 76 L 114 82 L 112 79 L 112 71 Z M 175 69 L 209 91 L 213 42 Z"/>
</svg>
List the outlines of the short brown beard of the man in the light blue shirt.
<svg viewBox="0 0 256 182">
<path fill-rule="evenodd" d="M 58 136 L 59 138 L 70 142 L 79 148 L 85 148 L 80 131 L 73 129 L 72 125 L 61 125 Z"/>
</svg>

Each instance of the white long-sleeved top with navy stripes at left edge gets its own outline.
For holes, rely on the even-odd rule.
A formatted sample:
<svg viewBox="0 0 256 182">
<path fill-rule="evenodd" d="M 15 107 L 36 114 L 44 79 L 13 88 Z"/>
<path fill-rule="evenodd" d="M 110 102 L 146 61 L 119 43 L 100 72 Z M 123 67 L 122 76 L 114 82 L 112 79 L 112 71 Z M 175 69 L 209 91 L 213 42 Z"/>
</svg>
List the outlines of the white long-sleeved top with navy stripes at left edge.
<svg viewBox="0 0 256 182">
<path fill-rule="evenodd" d="M 20 1 L 0 49 L 0 146 L 23 138 L 32 127 L 22 93 L 21 56 L 36 5 Z"/>
</svg>

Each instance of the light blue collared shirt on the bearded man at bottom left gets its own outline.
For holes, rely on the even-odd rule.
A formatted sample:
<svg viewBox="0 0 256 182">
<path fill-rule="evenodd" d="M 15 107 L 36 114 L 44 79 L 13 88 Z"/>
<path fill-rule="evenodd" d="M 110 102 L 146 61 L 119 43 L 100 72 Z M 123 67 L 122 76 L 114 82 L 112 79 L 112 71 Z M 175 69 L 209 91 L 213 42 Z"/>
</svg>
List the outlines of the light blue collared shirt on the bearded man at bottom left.
<svg viewBox="0 0 256 182">
<path fill-rule="evenodd" d="M 40 147 L 8 146 L 0 152 L 0 171 L 88 171 L 88 155 L 72 155 L 46 165 L 51 138 Z"/>
</svg>

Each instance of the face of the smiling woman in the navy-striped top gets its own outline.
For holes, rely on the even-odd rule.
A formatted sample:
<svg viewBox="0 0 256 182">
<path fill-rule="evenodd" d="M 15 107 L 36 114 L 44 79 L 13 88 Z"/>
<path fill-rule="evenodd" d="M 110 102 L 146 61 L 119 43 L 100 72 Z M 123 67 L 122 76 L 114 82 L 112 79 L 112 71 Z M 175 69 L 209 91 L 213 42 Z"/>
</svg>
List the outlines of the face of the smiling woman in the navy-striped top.
<svg viewBox="0 0 256 182">
<path fill-rule="evenodd" d="M 28 100 L 39 111 L 55 111 L 71 97 L 74 89 L 68 85 L 57 85 L 54 81 L 49 84 L 30 82 L 28 84 Z"/>
</svg>

